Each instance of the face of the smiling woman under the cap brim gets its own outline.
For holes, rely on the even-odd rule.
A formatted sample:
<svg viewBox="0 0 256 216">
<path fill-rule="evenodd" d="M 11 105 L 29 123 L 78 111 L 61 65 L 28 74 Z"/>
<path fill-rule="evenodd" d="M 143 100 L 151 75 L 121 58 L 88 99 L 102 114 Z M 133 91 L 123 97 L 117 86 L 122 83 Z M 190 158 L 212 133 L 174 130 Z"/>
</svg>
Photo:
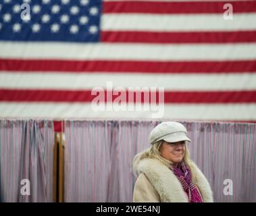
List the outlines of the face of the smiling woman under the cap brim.
<svg viewBox="0 0 256 216">
<path fill-rule="evenodd" d="M 161 157 L 168 159 L 177 165 L 180 163 L 185 155 L 185 141 L 180 142 L 165 142 L 161 144 L 160 153 Z"/>
</svg>

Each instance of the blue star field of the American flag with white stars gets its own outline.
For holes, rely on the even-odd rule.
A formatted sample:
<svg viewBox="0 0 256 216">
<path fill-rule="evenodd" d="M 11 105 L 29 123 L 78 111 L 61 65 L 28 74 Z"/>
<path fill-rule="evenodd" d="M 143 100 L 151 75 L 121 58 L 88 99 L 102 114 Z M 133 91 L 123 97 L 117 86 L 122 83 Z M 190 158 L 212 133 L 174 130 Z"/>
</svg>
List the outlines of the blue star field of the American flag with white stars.
<svg viewBox="0 0 256 216">
<path fill-rule="evenodd" d="M 99 42 L 101 0 L 0 0 L 0 41 Z"/>
</svg>

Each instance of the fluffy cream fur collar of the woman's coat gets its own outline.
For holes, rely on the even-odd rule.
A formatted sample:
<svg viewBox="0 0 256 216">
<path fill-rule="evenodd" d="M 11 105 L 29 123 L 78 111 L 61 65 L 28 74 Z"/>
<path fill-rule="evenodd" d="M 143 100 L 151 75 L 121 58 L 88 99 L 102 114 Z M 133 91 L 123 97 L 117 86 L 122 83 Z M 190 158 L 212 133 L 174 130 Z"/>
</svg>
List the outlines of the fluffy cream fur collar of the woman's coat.
<svg viewBox="0 0 256 216">
<path fill-rule="evenodd" d="M 190 165 L 193 182 L 199 188 L 204 202 L 213 202 L 211 187 L 195 163 Z M 157 159 L 143 159 L 138 163 L 138 173 L 145 173 L 157 190 L 161 202 L 186 202 L 182 185 L 176 175 Z"/>
</svg>

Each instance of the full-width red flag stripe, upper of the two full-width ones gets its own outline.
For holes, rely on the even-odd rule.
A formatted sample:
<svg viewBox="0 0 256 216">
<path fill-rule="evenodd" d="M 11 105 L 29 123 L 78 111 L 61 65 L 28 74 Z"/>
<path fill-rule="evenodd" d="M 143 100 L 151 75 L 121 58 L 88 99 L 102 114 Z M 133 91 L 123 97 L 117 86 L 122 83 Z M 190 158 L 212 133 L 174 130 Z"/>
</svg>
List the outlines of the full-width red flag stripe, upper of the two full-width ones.
<svg viewBox="0 0 256 216">
<path fill-rule="evenodd" d="M 0 71 L 110 73 L 240 73 L 256 72 L 248 61 L 68 61 L 0 59 Z"/>
</svg>

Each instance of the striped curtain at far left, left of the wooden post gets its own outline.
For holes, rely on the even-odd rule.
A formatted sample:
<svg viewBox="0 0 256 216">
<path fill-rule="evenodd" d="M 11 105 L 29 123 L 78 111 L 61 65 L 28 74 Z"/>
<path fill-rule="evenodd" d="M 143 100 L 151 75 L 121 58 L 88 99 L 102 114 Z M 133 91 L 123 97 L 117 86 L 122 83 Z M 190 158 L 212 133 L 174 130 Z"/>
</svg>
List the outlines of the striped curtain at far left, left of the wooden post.
<svg viewBox="0 0 256 216">
<path fill-rule="evenodd" d="M 0 119 L 1 202 L 53 201 L 53 145 L 53 121 Z"/>
</svg>

